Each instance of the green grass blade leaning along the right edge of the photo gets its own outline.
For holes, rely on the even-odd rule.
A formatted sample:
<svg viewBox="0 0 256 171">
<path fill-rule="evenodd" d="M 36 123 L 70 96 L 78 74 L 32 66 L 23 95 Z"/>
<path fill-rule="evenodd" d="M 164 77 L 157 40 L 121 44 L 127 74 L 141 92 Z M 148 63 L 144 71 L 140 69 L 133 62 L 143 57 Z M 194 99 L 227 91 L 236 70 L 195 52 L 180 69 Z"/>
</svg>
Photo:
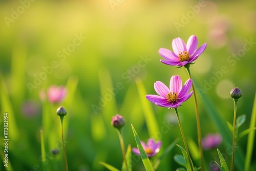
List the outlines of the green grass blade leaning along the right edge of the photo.
<svg viewBox="0 0 256 171">
<path fill-rule="evenodd" d="M 254 102 L 253 102 L 249 129 L 253 129 L 255 127 L 255 124 L 256 124 L 256 93 L 255 93 Z M 247 149 L 246 149 L 246 156 L 245 156 L 245 167 L 244 167 L 245 171 L 249 170 L 250 168 L 254 137 L 255 137 L 255 130 L 251 131 L 248 134 Z"/>
</svg>

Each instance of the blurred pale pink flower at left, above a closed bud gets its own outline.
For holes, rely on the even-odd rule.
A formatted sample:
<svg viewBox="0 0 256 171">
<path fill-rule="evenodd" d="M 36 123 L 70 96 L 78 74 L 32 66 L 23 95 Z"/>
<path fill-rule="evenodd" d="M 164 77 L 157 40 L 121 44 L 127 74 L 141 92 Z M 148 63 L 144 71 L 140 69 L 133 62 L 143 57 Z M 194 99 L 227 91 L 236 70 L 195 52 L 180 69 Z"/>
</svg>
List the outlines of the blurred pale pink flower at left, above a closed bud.
<svg viewBox="0 0 256 171">
<path fill-rule="evenodd" d="M 48 99 L 51 103 L 61 102 L 66 97 L 66 94 L 67 90 L 63 86 L 51 86 L 48 89 Z"/>
</svg>

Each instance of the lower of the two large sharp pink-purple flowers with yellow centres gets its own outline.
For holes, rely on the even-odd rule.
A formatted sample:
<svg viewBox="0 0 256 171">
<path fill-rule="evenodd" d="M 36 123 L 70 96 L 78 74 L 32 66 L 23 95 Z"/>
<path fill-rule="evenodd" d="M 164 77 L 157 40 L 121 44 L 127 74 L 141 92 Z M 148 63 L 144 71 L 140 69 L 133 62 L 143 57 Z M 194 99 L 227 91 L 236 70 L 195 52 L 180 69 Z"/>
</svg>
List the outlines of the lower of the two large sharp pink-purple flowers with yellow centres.
<svg viewBox="0 0 256 171">
<path fill-rule="evenodd" d="M 192 86 L 192 80 L 188 79 L 182 87 L 180 76 L 174 75 L 170 78 L 169 88 L 161 81 L 156 81 L 154 84 L 155 91 L 159 95 L 146 95 L 146 98 L 156 105 L 165 108 L 178 108 L 182 102 L 189 99 L 193 94 L 189 90 Z"/>
</svg>

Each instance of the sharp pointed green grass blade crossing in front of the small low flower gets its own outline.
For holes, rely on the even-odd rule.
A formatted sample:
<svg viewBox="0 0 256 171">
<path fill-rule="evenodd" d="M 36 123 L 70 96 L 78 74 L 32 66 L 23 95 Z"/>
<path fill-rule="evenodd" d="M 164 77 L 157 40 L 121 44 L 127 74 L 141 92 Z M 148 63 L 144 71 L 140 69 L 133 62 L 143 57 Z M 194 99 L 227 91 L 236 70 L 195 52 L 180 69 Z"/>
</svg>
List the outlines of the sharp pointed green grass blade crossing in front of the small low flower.
<svg viewBox="0 0 256 171">
<path fill-rule="evenodd" d="M 136 140 L 137 147 L 138 147 L 139 152 L 140 152 L 140 157 L 141 157 L 141 160 L 142 160 L 142 162 L 144 164 L 144 167 L 145 167 L 146 171 L 151 171 L 151 170 L 154 171 L 154 168 L 153 168 L 153 166 L 152 166 L 152 164 L 150 162 L 150 159 L 148 159 L 148 157 L 147 157 L 147 155 L 146 155 L 146 153 L 144 151 L 144 148 L 141 145 L 140 138 L 137 135 L 133 125 L 132 125 L 132 129 L 133 129 L 133 134 L 134 134 L 134 138 Z"/>
</svg>

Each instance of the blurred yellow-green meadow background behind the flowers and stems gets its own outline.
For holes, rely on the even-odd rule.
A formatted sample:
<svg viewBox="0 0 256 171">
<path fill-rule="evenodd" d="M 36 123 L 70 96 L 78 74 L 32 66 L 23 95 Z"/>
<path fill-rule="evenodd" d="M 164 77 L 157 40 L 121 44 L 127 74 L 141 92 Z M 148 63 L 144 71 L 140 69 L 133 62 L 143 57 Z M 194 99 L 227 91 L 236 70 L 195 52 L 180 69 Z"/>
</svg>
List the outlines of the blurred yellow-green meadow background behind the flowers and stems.
<svg viewBox="0 0 256 171">
<path fill-rule="evenodd" d="M 238 102 L 238 115 L 247 116 L 241 130 L 248 128 L 256 86 L 255 7 L 253 0 L 1 1 L 0 125 L 4 130 L 3 114 L 8 112 L 8 157 L 13 170 L 42 167 L 41 129 L 51 170 L 64 169 L 62 151 L 55 157 L 50 155 L 54 143 L 61 137 L 60 132 L 54 132 L 60 127 L 55 114 L 60 105 L 68 111 L 63 124 L 70 170 L 106 170 L 99 161 L 121 168 L 121 148 L 111 117 L 118 113 L 125 118 L 125 146 L 136 146 L 131 124 L 141 140 L 150 138 L 135 80 L 140 78 L 147 93 L 156 94 L 153 85 L 157 80 L 168 84 L 172 75 L 180 75 L 183 82 L 188 79 L 184 68 L 160 62 L 159 48 L 172 50 L 175 37 L 186 42 L 195 34 L 199 46 L 207 42 L 205 52 L 190 67 L 191 73 L 203 93 L 214 102 L 224 122 L 232 122 L 233 100 L 229 92 L 239 87 L 243 97 Z M 74 44 L 77 37 L 80 43 L 76 40 Z M 52 72 L 51 65 L 55 67 Z M 223 66 L 226 66 L 225 73 Z M 48 68 L 50 74 L 29 88 L 28 83 L 34 84 L 35 77 L 45 72 L 44 68 Z M 110 89 L 118 88 L 120 83 L 120 90 L 109 96 Z M 42 102 L 40 90 L 47 90 L 53 84 L 67 85 L 67 98 L 59 104 Z M 202 136 L 219 132 L 200 95 L 198 97 Z M 35 108 L 31 114 L 24 112 L 28 101 Z M 99 106 L 97 111 L 93 110 L 95 105 Z M 166 134 L 155 137 L 162 140 L 160 153 L 163 153 L 180 137 L 179 127 L 173 110 L 151 105 L 158 126 L 168 123 L 172 127 Z M 186 101 L 179 112 L 185 135 L 197 142 L 193 98 Z M 44 124 L 52 130 L 45 131 Z M 3 131 L 0 132 L 2 142 Z M 243 154 L 246 142 L 247 136 L 239 143 Z M 1 145 L 3 155 L 3 143 Z M 225 144 L 218 148 L 222 152 L 227 149 Z M 254 145 L 254 169 L 255 153 Z M 173 159 L 175 154 L 181 154 L 178 147 L 165 156 L 159 170 L 178 168 Z M 205 151 L 205 165 L 211 165 L 217 156 L 216 148 Z M 141 160 L 134 154 L 133 160 L 134 170 L 143 170 Z M 227 163 L 230 160 L 228 156 Z M 7 169 L 3 164 L 0 168 Z"/>
</svg>

